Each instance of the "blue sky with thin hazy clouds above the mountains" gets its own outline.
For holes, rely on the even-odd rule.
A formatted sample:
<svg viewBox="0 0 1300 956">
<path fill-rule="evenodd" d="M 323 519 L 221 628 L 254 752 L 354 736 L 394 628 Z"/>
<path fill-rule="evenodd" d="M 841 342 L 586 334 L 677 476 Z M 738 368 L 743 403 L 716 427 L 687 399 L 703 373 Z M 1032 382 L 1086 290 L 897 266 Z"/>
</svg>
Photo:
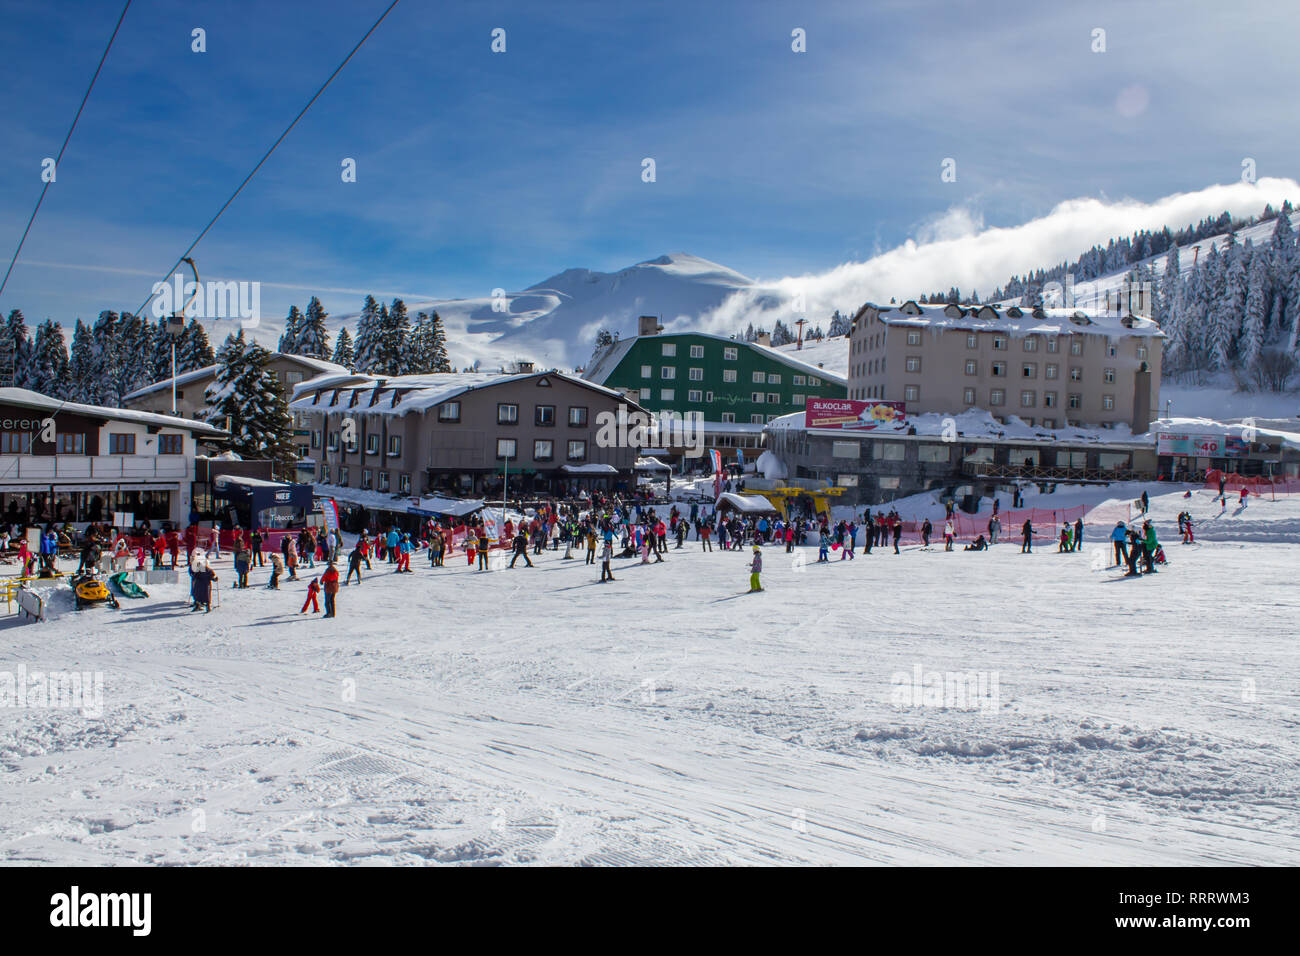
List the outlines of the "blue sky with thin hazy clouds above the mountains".
<svg viewBox="0 0 1300 956">
<path fill-rule="evenodd" d="M 0 308 L 65 326 L 135 308 L 385 5 L 135 0 Z M 0 0 L 5 261 L 120 9 Z M 195 258 L 263 282 L 268 313 L 311 291 L 341 312 L 679 250 L 820 272 L 954 208 L 997 226 L 1152 202 L 1245 156 L 1295 177 L 1294 9 L 403 0 Z"/>
</svg>

